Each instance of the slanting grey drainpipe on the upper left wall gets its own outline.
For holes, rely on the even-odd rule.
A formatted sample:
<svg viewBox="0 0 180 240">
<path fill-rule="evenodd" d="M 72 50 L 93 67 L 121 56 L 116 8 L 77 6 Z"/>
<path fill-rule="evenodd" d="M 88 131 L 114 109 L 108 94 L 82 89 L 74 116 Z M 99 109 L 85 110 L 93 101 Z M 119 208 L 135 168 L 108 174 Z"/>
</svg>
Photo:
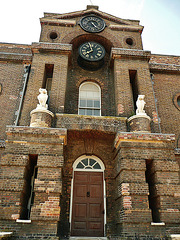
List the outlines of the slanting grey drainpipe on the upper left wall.
<svg viewBox="0 0 180 240">
<path fill-rule="evenodd" d="M 23 100 L 24 100 L 24 95 L 25 95 L 25 91 L 26 91 L 26 86 L 27 86 L 30 70 L 31 70 L 31 64 L 26 65 L 25 68 L 24 68 L 25 73 L 24 73 L 23 90 L 22 90 L 22 92 L 20 92 L 21 98 L 20 98 L 19 108 L 15 113 L 15 115 L 16 115 L 16 120 L 14 122 L 15 126 L 17 126 L 18 122 L 19 122 L 19 118 L 20 118 L 20 114 L 21 114 L 21 110 L 22 110 L 22 105 L 23 105 Z"/>
</svg>

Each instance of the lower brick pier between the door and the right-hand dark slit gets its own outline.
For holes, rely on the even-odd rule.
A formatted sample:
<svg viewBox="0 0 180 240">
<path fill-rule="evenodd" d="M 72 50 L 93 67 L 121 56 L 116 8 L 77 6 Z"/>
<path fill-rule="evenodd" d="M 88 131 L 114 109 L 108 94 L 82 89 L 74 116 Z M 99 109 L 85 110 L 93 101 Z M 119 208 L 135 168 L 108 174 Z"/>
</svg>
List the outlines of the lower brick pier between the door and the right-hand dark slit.
<svg viewBox="0 0 180 240">
<path fill-rule="evenodd" d="M 151 222 L 151 210 L 145 161 L 139 156 L 133 156 L 135 150 L 130 150 L 130 145 L 122 142 L 115 159 L 116 231 L 121 236 L 134 237 L 148 231 L 147 222 Z"/>
</svg>

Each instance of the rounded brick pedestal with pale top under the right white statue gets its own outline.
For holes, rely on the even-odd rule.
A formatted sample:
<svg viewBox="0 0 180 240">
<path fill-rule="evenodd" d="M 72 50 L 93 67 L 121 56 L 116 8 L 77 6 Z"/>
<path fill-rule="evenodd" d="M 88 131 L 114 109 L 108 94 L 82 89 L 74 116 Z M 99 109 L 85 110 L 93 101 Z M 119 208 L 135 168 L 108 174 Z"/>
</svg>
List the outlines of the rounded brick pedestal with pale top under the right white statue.
<svg viewBox="0 0 180 240">
<path fill-rule="evenodd" d="M 151 118 L 146 114 L 137 114 L 128 119 L 131 132 L 151 132 Z"/>
</svg>

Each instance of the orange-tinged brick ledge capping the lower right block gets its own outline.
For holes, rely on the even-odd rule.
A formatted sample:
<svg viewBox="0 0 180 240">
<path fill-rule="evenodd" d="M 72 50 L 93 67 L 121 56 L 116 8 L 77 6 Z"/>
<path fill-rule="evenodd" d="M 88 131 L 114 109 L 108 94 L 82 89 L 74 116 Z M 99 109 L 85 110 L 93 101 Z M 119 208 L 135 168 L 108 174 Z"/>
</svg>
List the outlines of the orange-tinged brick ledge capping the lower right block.
<svg viewBox="0 0 180 240">
<path fill-rule="evenodd" d="M 114 147 L 118 148 L 121 142 L 174 143 L 175 134 L 118 132 L 114 141 Z"/>
</svg>

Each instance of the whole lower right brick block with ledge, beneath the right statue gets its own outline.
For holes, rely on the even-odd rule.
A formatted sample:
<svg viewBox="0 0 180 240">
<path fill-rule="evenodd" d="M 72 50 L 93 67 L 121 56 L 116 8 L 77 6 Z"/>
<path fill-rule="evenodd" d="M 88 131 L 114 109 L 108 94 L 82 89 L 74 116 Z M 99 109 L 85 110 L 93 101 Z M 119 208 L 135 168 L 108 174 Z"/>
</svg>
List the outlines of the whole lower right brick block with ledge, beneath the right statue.
<svg viewBox="0 0 180 240">
<path fill-rule="evenodd" d="M 115 215 L 119 235 L 167 236 L 174 229 L 179 231 L 179 168 L 174 141 L 175 136 L 167 134 L 117 134 Z M 159 220 L 154 214 L 159 214 Z M 153 221 L 161 223 L 157 227 Z"/>
</svg>

